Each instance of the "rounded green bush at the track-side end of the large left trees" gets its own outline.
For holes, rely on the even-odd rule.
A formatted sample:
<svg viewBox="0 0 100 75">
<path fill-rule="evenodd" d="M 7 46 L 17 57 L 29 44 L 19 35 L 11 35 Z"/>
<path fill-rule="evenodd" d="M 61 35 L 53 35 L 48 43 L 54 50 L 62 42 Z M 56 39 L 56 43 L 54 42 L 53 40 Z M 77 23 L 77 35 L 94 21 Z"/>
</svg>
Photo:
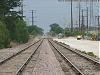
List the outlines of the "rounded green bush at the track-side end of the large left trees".
<svg viewBox="0 0 100 75">
<path fill-rule="evenodd" d="M 26 43 L 29 39 L 28 29 L 23 20 L 16 21 L 15 27 L 16 41 L 19 43 Z"/>
</svg>

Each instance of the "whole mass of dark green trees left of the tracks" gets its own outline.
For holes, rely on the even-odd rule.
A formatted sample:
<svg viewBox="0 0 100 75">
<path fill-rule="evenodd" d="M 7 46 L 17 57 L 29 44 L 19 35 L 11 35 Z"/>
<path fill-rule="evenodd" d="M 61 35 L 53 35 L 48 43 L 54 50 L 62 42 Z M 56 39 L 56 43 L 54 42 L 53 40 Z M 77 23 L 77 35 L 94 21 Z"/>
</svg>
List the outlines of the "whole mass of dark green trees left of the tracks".
<svg viewBox="0 0 100 75">
<path fill-rule="evenodd" d="M 20 0 L 0 0 L 0 48 L 11 47 L 11 42 L 26 43 L 30 34 L 37 36 L 43 33 L 37 26 L 29 31 L 31 26 L 24 21 L 21 11 L 14 11 L 20 5 Z"/>
</svg>

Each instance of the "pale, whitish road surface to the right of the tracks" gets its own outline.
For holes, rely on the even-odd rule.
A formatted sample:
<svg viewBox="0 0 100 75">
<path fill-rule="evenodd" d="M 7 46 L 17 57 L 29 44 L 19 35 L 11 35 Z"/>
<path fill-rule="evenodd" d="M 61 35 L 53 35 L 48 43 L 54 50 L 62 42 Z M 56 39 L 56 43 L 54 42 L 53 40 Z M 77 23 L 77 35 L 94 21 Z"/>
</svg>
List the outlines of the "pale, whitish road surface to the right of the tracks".
<svg viewBox="0 0 100 75">
<path fill-rule="evenodd" d="M 70 37 L 66 39 L 54 39 L 59 42 L 70 45 L 73 48 L 86 51 L 94 52 L 98 57 L 100 57 L 100 42 L 99 41 L 90 41 L 90 40 L 77 40 L 76 38 Z"/>
</svg>

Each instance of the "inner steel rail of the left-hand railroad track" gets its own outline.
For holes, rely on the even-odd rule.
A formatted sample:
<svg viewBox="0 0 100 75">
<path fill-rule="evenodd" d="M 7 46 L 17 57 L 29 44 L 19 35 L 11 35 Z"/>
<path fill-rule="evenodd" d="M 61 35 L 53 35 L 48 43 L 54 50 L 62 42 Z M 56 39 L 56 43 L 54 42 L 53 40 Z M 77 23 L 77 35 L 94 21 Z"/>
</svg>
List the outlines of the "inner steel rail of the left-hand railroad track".
<svg viewBox="0 0 100 75">
<path fill-rule="evenodd" d="M 33 57 L 33 55 L 36 53 L 36 51 L 39 49 L 39 47 L 41 46 L 43 40 L 41 41 L 41 43 L 38 45 L 38 47 L 35 49 L 35 51 L 29 56 L 29 58 L 26 60 L 26 62 L 20 67 L 20 69 L 18 69 L 18 71 L 16 72 L 16 75 L 21 75 L 22 71 L 24 70 L 24 68 L 27 66 L 27 64 L 30 62 L 31 58 Z"/>
</svg>

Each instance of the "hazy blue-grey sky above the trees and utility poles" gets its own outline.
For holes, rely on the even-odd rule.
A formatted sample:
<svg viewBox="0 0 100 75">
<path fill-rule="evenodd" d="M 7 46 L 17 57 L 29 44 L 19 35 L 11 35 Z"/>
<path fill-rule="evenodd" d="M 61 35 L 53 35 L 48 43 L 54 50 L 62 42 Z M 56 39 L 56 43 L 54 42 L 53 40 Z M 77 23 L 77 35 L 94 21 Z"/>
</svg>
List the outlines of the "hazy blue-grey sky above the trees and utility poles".
<svg viewBox="0 0 100 75">
<path fill-rule="evenodd" d="M 34 24 L 43 28 L 44 32 L 50 30 L 49 25 L 58 23 L 62 27 L 70 26 L 70 2 L 58 0 L 24 0 L 24 15 L 31 25 L 31 10 L 34 11 Z M 74 24 L 78 23 L 78 3 L 73 3 Z"/>
</svg>

